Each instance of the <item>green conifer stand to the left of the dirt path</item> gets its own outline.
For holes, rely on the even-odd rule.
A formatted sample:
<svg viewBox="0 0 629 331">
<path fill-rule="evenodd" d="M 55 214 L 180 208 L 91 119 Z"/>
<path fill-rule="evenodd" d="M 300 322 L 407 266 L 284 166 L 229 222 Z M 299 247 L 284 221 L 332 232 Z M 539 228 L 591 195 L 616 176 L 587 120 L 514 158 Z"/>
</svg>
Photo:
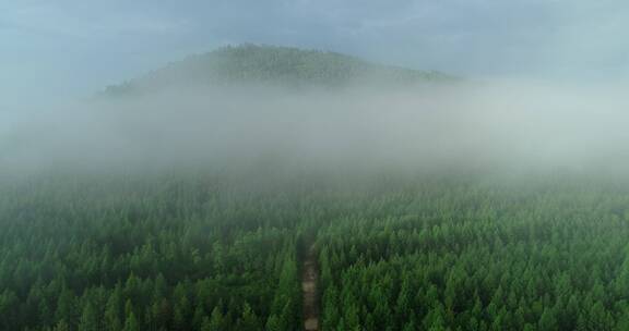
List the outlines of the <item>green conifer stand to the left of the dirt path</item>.
<svg viewBox="0 0 629 331">
<path fill-rule="evenodd" d="M 298 328 L 286 197 L 167 176 L 31 184 L 0 188 L 0 330 Z"/>
</svg>

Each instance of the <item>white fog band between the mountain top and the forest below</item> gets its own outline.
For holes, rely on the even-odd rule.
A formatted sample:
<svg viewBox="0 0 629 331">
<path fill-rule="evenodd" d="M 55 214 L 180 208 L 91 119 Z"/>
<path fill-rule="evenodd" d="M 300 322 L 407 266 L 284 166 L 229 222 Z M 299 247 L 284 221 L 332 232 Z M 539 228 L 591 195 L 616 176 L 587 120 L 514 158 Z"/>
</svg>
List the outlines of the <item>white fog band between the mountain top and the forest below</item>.
<svg viewBox="0 0 629 331">
<path fill-rule="evenodd" d="M 5 132 L 0 171 L 622 172 L 629 166 L 622 96 L 619 87 L 475 82 L 100 100 L 58 107 Z"/>
</svg>

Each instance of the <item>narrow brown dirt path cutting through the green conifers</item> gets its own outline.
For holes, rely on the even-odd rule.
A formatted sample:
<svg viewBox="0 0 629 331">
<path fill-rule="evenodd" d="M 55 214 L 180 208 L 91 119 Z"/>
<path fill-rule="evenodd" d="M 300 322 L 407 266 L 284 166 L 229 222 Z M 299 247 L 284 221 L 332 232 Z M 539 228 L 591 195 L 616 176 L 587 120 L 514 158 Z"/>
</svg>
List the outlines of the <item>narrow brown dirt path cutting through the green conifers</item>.
<svg viewBox="0 0 629 331">
<path fill-rule="evenodd" d="M 308 249 L 301 271 L 301 292 L 304 293 L 304 329 L 319 331 L 319 263 L 314 245 Z"/>
</svg>

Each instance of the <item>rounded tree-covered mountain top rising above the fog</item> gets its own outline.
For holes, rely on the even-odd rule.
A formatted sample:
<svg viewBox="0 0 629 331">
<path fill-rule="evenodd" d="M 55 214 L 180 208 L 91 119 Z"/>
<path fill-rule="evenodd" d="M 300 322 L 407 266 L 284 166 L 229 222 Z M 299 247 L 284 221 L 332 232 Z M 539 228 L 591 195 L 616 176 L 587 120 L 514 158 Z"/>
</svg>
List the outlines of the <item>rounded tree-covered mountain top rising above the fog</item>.
<svg viewBox="0 0 629 331">
<path fill-rule="evenodd" d="M 411 85 L 450 79 L 451 76 L 439 72 L 375 64 L 336 52 L 242 45 L 191 56 L 124 84 L 109 86 L 105 94 L 119 96 L 234 84 L 294 88 L 353 84 Z"/>
</svg>

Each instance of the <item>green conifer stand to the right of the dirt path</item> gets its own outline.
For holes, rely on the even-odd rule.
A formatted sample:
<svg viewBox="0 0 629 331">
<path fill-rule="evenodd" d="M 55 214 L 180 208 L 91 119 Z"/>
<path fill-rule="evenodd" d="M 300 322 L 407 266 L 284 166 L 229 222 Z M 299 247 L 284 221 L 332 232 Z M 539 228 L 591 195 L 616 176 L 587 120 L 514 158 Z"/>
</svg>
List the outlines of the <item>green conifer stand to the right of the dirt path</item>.
<svg viewBox="0 0 629 331">
<path fill-rule="evenodd" d="M 354 198 L 319 230 L 324 330 L 625 326 L 628 292 L 615 289 L 629 192 L 544 181 L 428 181 Z"/>
</svg>

